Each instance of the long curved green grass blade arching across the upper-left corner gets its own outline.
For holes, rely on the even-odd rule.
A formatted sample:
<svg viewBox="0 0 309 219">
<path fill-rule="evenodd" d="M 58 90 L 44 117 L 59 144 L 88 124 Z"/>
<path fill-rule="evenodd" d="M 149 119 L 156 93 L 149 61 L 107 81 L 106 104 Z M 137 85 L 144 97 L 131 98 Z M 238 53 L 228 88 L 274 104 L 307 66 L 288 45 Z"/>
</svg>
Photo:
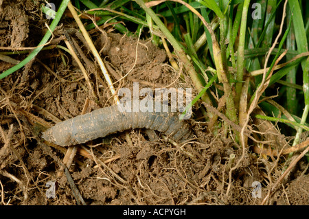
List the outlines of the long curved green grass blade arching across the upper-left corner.
<svg viewBox="0 0 309 219">
<path fill-rule="evenodd" d="M 43 49 L 43 45 L 47 43 L 50 36 L 52 36 L 52 32 L 55 30 L 56 26 L 58 25 L 63 12 L 65 12 L 65 9 L 67 8 L 67 4 L 69 3 L 69 0 L 63 0 L 59 6 L 58 12 L 56 12 L 55 19 L 52 21 L 51 25 L 49 26 L 49 30 L 47 30 L 46 34 L 43 36 L 40 43 L 38 43 L 38 47 L 34 49 L 27 58 L 19 62 L 19 64 L 15 65 L 14 67 L 4 71 L 0 74 L 0 79 L 5 78 L 6 76 L 9 76 L 11 73 L 17 71 L 18 69 L 21 69 L 21 67 L 25 66 L 32 58 L 35 58 L 41 49 Z"/>
</svg>

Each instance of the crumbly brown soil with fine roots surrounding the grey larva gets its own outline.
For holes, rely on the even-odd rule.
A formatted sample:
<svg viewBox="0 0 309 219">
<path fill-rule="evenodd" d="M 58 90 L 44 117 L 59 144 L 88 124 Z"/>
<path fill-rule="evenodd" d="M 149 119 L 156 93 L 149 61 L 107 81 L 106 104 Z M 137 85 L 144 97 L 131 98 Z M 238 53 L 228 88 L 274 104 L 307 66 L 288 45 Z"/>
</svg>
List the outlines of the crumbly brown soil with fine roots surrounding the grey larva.
<svg viewBox="0 0 309 219">
<path fill-rule="evenodd" d="M 43 1 L 0 1 L 0 46 L 34 47 L 46 27 Z M 78 146 L 65 172 L 68 148 L 41 139 L 41 131 L 60 120 L 114 104 L 111 92 L 73 19 L 63 19 L 52 45 L 65 46 L 70 36 L 82 53 L 89 84 L 71 56 L 60 49 L 41 51 L 25 67 L 0 80 L 0 183 L 1 205 L 78 205 L 72 189 L 87 205 L 259 205 L 282 171 L 284 157 L 273 160 L 245 151 L 244 159 L 229 176 L 229 157 L 242 157 L 238 144 L 225 132 L 211 134 L 205 122 L 190 119 L 196 139 L 179 145 L 159 136 L 150 141 L 146 130 L 118 132 Z M 115 33 L 111 27 L 91 31 L 116 89 L 193 87 L 184 72 L 175 71 L 165 50 L 151 40 Z M 23 60 L 27 54 L 11 56 Z M 1 72 L 14 66 L 0 61 Z M 181 63 L 179 63 L 181 66 Z M 183 78 L 179 78 L 180 75 Z M 125 77 L 124 77 L 125 76 Z M 196 91 L 193 91 L 193 95 Z M 198 111 L 194 111 L 198 115 Z M 288 138 L 286 138 L 288 139 Z M 72 149 L 72 147 L 71 147 Z M 70 150 L 71 150 L 70 149 Z M 84 155 L 82 152 L 88 154 Z M 69 183 L 69 176 L 73 185 Z M 299 161 L 293 174 L 279 183 L 268 205 L 308 205 L 308 163 Z M 253 182 L 261 197 L 253 197 Z M 47 197 L 54 182 L 55 197 Z"/>
</svg>

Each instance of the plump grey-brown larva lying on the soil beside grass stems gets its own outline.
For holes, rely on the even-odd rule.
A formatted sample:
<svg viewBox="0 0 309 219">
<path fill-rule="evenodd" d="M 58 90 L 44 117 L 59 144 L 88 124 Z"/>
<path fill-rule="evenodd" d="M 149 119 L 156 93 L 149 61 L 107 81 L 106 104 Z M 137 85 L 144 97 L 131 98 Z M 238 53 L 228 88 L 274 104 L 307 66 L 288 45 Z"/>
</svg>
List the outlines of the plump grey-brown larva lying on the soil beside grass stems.
<svg viewBox="0 0 309 219">
<path fill-rule="evenodd" d="M 60 122 L 43 132 L 43 139 L 72 146 L 130 128 L 158 130 L 178 142 L 192 137 L 190 126 L 170 108 L 169 112 L 120 112 L 114 105 Z"/>
</svg>

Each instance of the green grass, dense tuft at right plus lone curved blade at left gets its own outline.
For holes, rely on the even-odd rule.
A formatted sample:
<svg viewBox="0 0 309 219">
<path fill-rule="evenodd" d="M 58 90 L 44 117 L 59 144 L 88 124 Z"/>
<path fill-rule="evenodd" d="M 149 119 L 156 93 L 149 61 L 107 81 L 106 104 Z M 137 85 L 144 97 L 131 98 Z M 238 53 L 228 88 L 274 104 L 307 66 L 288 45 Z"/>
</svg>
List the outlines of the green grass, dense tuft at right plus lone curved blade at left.
<svg viewBox="0 0 309 219">
<path fill-rule="evenodd" d="M 261 4 L 260 11 L 252 8 L 252 3 L 255 2 L 249 0 L 184 2 L 187 5 L 175 1 L 163 1 L 148 7 L 142 0 L 73 1 L 79 10 L 100 17 L 98 25 L 106 21 L 115 23 L 113 25 L 115 32 L 136 35 L 143 27 L 142 37 L 151 37 L 152 42 L 161 48 L 163 45 L 160 37 L 167 38 L 173 53 L 178 56 L 180 62 L 183 62 L 185 73 L 190 76 L 193 87 L 198 92 L 192 104 L 203 101 L 218 106 L 217 100 L 224 96 L 225 108 L 222 108 L 221 112 L 232 122 L 242 125 L 247 112 L 240 109 L 248 109 L 253 97 L 258 95 L 259 106 L 266 116 L 257 116 L 273 124 L 279 122 L 277 125 L 283 134 L 295 137 L 293 145 L 299 143 L 303 130 L 308 130 L 308 54 L 293 60 L 281 69 L 266 71 L 266 78 L 270 76 L 270 80 L 267 87 L 262 89 L 262 93 L 257 93 L 261 86 L 262 75 L 250 76 L 249 86 L 244 87 L 244 81 L 249 76 L 248 71 L 250 74 L 251 71 L 264 68 L 266 54 L 279 33 L 284 0 L 255 1 Z M 58 24 L 66 5 L 67 1 L 62 1 L 56 19 L 50 25 L 52 31 Z M 267 67 L 273 67 L 285 49 L 288 49 L 286 56 L 279 63 L 288 62 L 295 56 L 308 52 L 308 8 L 308 1 L 288 0 L 282 34 L 271 51 Z M 260 19 L 253 19 L 253 12 L 260 13 Z M 168 30 L 163 21 L 172 23 L 172 30 Z M 86 26 L 87 30 L 94 27 L 92 23 Z M 149 32 L 145 31 L 147 28 Z M 50 32 L 47 32 L 38 46 L 46 43 L 50 36 Z M 23 67 L 41 49 L 43 47 L 34 49 L 25 60 L 1 73 L 0 79 Z M 0 54 L 10 56 L 10 52 Z M 248 93 L 248 101 L 242 100 L 242 93 Z M 277 104 L 284 107 L 292 117 L 299 118 L 297 122 L 275 117 L 279 109 L 264 102 L 267 97 L 273 95 L 276 95 L 273 100 Z M 209 124 L 219 127 L 216 125 L 221 123 L 218 115 L 204 110 Z M 238 132 L 235 134 L 239 135 Z"/>
</svg>

